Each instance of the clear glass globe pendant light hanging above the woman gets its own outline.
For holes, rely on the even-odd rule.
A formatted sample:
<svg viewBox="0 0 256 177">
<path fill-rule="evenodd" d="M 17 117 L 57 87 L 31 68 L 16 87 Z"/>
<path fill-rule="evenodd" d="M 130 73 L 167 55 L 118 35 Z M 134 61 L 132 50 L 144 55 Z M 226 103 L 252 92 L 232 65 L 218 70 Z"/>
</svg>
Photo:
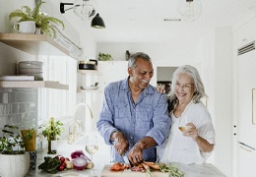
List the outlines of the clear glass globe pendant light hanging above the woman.
<svg viewBox="0 0 256 177">
<path fill-rule="evenodd" d="M 200 0 L 179 0 L 177 11 L 184 21 L 192 22 L 199 18 L 202 12 Z"/>
</svg>

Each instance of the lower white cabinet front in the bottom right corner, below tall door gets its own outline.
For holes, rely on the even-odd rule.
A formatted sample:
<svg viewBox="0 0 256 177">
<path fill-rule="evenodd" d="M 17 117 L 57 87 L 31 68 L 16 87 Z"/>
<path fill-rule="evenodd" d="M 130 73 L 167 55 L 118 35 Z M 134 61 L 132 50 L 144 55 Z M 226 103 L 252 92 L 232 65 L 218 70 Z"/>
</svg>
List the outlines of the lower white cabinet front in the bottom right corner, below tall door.
<svg viewBox="0 0 256 177">
<path fill-rule="evenodd" d="M 238 177 L 253 177 L 256 173 L 256 152 L 251 148 L 238 145 Z"/>
</svg>

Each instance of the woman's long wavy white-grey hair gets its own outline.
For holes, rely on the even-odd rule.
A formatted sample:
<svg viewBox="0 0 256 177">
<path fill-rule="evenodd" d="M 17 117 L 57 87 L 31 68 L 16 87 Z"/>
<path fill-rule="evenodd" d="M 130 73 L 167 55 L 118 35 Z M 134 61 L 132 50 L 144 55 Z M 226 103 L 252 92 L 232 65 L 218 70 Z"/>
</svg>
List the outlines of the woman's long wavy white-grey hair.
<svg viewBox="0 0 256 177">
<path fill-rule="evenodd" d="M 191 81 L 194 84 L 194 95 L 192 97 L 192 101 L 194 103 L 197 103 L 200 101 L 200 99 L 204 96 L 207 96 L 205 93 L 205 87 L 203 85 L 203 82 L 200 78 L 200 75 L 197 71 L 197 69 L 191 65 L 184 65 L 176 69 L 176 71 L 173 73 L 173 78 L 171 81 L 171 90 L 168 94 L 169 98 L 169 109 L 173 110 L 175 104 L 177 103 L 177 96 L 175 94 L 174 88 L 176 86 L 177 77 L 180 74 L 188 74 L 191 77 Z"/>
</svg>

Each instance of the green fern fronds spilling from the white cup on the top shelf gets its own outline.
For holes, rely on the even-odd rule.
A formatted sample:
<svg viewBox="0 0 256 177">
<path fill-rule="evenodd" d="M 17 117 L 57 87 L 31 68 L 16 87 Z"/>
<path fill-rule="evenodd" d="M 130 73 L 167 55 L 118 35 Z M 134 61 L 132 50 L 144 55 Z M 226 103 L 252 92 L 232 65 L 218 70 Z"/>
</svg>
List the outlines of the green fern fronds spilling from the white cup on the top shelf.
<svg viewBox="0 0 256 177">
<path fill-rule="evenodd" d="M 46 2 L 42 1 L 38 3 L 33 10 L 29 6 L 23 6 L 22 10 L 15 10 L 9 14 L 9 21 L 13 18 L 20 18 L 19 22 L 34 21 L 37 29 L 40 29 L 41 32 L 49 35 L 50 37 L 55 38 L 56 29 L 52 25 L 62 26 L 62 29 L 64 29 L 64 23 L 55 17 L 49 17 L 42 13 L 40 11 L 40 6 L 43 3 Z"/>
</svg>

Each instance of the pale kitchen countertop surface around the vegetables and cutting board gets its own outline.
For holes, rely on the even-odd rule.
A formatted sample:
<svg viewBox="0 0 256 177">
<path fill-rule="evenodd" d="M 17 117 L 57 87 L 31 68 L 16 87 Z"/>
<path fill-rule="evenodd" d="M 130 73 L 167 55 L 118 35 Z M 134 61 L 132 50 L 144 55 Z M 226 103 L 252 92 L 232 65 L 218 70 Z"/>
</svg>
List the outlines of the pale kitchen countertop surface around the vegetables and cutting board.
<svg viewBox="0 0 256 177">
<path fill-rule="evenodd" d="M 70 156 L 70 152 L 73 150 L 78 150 L 78 149 L 83 149 L 84 146 L 80 146 L 80 145 L 65 145 L 65 146 L 60 146 L 60 148 L 58 148 L 58 154 L 62 154 L 65 157 L 69 157 Z M 30 171 L 27 174 L 27 177 L 62 177 L 62 176 L 68 176 L 68 177 L 88 177 L 90 169 L 86 169 L 86 170 L 66 170 L 66 171 L 61 171 L 58 172 L 56 174 L 49 174 L 46 173 L 44 171 L 41 171 L 38 169 L 38 165 L 41 164 L 44 159 L 44 156 L 55 156 L 56 154 L 47 154 L 46 149 L 37 152 L 37 159 L 36 159 L 36 168 L 35 170 Z M 94 157 L 94 159 L 98 159 L 101 162 L 103 161 L 102 158 L 102 154 L 98 154 L 100 156 L 96 156 Z M 95 161 L 95 160 L 94 160 Z M 97 171 L 97 177 L 114 177 L 114 176 L 122 176 L 122 177 L 131 177 L 131 176 L 136 176 L 136 177 L 144 177 L 147 176 L 146 173 L 142 173 L 142 172 L 134 172 L 134 171 L 130 171 L 130 170 L 126 170 L 123 172 L 110 172 L 108 169 L 110 167 L 110 164 L 107 164 L 108 162 L 105 162 L 106 165 L 104 164 L 98 164 L 96 162 L 96 167 L 94 169 L 96 169 Z M 224 173 L 221 172 L 216 166 L 214 166 L 211 163 L 205 163 L 205 164 L 191 164 L 191 165 L 185 165 L 185 164 L 180 164 L 177 163 L 176 166 L 178 166 L 178 168 L 183 171 L 185 173 L 185 177 L 224 177 Z M 157 173 L 155 174 L 155 177 L 169 177 L 168 174 L 164 174 L 164 173 Z"/>
</svg>

